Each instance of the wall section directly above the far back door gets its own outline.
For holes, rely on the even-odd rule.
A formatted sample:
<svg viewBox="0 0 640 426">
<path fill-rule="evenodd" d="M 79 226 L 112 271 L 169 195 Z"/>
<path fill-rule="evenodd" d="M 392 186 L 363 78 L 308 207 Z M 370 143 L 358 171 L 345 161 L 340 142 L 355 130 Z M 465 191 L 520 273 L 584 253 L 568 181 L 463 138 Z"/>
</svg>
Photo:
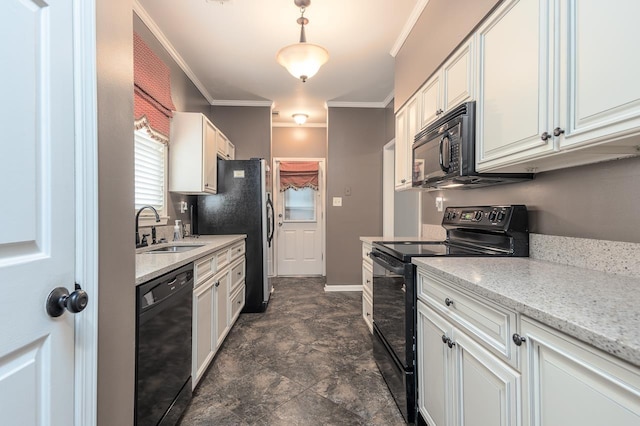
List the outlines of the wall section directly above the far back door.
<svg viewBox="0 0 640 426">
<path fill-rule="evenodd" d="M 274 127 L 273 157 L 327 158 L 326 127 Z"/>
</svg>

